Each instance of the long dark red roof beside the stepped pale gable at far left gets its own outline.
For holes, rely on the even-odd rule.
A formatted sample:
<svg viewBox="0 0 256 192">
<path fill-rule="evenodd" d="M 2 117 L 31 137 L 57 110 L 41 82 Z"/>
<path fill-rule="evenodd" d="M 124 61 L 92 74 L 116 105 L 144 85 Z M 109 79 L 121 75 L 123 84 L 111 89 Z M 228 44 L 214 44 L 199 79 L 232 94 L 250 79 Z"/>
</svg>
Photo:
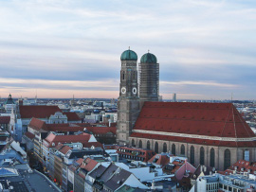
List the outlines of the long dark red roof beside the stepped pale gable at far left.
<svg viewBox="0 0 256 192">
<path fill-rule="evenodd" d="M 20 106 L 21 118 L 48 118 L 51 114 L 62 112 L 58 106 Z"/>
</svg>

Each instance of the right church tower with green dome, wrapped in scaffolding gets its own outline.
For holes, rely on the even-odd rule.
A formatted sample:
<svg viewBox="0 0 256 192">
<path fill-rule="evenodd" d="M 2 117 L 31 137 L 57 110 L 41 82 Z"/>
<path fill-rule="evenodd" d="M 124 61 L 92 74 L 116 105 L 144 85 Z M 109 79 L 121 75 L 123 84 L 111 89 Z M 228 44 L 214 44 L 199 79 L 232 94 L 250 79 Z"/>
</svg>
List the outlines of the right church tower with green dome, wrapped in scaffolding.
<svg viewBox="0 0 256 192">
<path fill-rule="evenodd" d="M 140 107 L 144 101 L 158 101 L 159 98 L 159 63 L 155 55 L 144 54 L 138 64 Z"/>
</svg>

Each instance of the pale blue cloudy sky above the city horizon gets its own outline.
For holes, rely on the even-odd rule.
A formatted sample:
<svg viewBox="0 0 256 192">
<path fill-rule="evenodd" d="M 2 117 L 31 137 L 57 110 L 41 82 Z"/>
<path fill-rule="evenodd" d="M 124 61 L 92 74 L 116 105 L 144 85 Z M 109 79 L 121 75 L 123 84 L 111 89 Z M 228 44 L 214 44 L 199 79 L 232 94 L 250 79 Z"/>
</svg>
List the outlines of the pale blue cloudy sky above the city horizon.
<svg viewBox="0 0 256 192">
<path fill-rule="evenodd" d="M 117 98 L 130 46 L 165 99 L 255 99 L 255 21 L 255 0 L 0 0 L 0 96 Z"/>
</svg>

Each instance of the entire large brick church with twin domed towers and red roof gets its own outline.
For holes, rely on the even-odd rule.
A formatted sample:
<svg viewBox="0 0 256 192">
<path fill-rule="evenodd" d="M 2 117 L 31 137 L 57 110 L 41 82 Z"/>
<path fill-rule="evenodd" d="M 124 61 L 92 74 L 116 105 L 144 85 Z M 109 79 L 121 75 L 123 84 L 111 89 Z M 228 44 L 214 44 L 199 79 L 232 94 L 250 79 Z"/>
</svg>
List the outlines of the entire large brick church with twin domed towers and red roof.
<svg viewBox="0 0 256 192">
<path fill-rule="evenodd" d="M 155 55 L 144 54 L 137 67 L 129 49 L 120 61 L 119 145 L 171 152 L 219 170 L 240 159 L 256 161 L 256 136 L 233 104 L 159 101 Z"/>
</svg>

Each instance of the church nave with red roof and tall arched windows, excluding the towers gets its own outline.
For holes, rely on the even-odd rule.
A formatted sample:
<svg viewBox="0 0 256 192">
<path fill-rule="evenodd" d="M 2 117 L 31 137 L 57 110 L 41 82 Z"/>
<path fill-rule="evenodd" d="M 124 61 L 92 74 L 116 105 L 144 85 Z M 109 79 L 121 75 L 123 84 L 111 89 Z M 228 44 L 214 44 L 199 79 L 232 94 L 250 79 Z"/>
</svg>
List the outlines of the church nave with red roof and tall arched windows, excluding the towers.
<svg viewBox="0 0 256 192">
<path fill-rule="evenodd" d="M 256 160 L 255 134 L 231 103 L 145 102 L 130 143 L 219 170 Z"/>
</svg>

